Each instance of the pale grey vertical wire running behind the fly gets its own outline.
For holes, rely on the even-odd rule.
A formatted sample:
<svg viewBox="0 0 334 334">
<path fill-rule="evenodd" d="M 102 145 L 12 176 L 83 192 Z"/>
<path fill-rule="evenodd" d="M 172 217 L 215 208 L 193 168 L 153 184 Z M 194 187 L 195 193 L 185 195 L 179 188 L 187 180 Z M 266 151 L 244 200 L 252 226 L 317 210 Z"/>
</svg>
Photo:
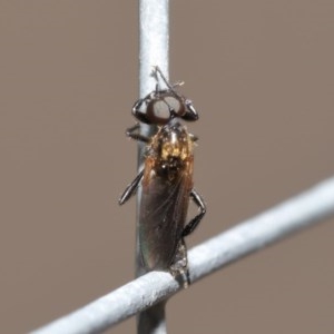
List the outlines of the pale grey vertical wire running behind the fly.
<svg viewBox="0 0 334 334">
<path fill-rule="evenodd" d="M 145 97 L 156 86 L 151 71 L 154 66 L 159 66 L 165 76 L 169 77 L 169 1 L 168 0 L 139 0 L 139 96 Z M 154 128 L 141 125 L 140 132 L 151 136 Z M 145 146 L 138 144 L 138 169 L 143 169 L 143 154 Z M 137 193 L 137 232 L 136 232 L 136 276 L 146 273 L 139 255 L 139 206 L 141 188 Z M 161 302 L 137 316 L 138 334 L 165 334 L 165 304 Z"/>
</svg>

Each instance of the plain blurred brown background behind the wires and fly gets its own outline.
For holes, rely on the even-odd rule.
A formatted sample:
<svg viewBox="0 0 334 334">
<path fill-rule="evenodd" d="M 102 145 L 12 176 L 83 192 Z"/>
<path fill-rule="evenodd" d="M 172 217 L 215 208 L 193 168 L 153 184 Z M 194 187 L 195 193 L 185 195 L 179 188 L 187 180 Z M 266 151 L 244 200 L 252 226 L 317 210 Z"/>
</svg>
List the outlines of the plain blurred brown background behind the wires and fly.
<svg viewBox="0 0 334 334">
<path fill-rule="evenodd" d="M 137 1 L 0 2 L 0 333 L 24 333 L 132 278 Z M 188 245 L 333 174 L 333 1 L 173 1 L 170 78 L 200 121 Z M 331 224 L 332 223 L 332 224 Z M 170 333 L 333 333 L 334 228 L 195 284 Z M 134 318 L 112 333 L 134 333 Z"/>
</svg>

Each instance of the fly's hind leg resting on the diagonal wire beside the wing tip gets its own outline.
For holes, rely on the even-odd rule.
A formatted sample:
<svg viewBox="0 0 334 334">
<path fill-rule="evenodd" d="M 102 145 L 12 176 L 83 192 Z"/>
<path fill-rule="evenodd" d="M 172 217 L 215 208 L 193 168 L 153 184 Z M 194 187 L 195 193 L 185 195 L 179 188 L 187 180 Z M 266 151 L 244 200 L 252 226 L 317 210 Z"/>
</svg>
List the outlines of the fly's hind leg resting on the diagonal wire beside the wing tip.
<svg viewBox="0 0 334 334">
<path fill-rule="evenodd" d="M 176 255 L 169 271 L 173 277 L 180 278 L 181 282 L 179 283 L 183 283 L 184 288 L 190 285 L 187 247 L 183 238 L 178 243 Z"/>
</svg>

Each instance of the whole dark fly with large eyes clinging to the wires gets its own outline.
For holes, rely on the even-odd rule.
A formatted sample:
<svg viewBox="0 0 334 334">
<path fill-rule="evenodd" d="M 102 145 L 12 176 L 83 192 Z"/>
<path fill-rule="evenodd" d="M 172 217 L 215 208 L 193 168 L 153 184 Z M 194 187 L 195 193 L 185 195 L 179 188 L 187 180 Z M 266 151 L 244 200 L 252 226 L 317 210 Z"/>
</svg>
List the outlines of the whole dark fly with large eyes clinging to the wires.
<svg viewBox="0 0 334 334">
<path fill-rule="evenodd" d="M 200 195 L 193 186 L 194 143 L 180 120 L 198 119 L 190 100 L 179 95 L 161 70 L 155 67 L 153 75 L 157 86 L 139 99 L 132 115 L 137 120 L 157 126 L 156 134 L 143 136 L 139 124 L 127 129 L 128 137 L 146 144 L 143 170 L 127 186 L 119 199 L 122 205 L 141 185 L 139 206 L 139 252 L 146 271 L 169 271 L 189 285 L 187 248 L 184 238 L 199 224 L 206 213 Z M 160 89 L 158 76 L 166 84 Z M 198 207 L 198 214 L 186 224 L 189 199 Z"/>
</svg>

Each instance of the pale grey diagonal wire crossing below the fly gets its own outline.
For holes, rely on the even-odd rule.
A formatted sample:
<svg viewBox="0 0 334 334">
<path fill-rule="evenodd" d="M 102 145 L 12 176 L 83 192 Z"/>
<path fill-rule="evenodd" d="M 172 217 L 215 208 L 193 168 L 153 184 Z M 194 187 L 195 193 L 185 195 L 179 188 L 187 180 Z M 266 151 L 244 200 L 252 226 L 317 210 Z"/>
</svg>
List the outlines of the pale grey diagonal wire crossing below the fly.
<svg viewBox="0 0 334 334">
<path fill-rule="evenodd" d="M 194 283 L 331 216 L 334 177 L 190 249 L 190 279 Z M 100 333 L 180 289 L 168 273 L 151 272 L 32 333 Z"/>
</svg>

